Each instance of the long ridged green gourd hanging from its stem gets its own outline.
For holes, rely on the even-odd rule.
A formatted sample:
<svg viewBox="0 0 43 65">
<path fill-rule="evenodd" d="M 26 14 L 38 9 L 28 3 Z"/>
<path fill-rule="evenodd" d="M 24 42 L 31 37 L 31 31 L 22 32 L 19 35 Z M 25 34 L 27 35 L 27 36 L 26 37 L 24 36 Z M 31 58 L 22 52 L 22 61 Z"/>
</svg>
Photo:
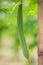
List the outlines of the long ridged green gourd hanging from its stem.
<svg viewBox="0 0 43 65">
<path fill-rule="evenodd" d="M 23 54 L 25 58 L 29 59 L 29 51 L 28 51 L 24 33 L 23 33 L 22 0 L 18 8 L 17 25 L 18 25 L 19 37 L 21 41 L 21 47 L 22 47 Z"/>
</svg>

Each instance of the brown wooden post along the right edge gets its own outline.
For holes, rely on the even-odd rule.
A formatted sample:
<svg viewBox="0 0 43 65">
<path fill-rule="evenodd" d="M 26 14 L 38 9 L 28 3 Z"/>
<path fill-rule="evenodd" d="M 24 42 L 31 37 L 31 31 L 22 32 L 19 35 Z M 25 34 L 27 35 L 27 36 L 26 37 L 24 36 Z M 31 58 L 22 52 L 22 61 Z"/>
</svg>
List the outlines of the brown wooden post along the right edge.
<svg viewBox="0 0 43 65">
<path fill-rule="evenodd" d="M 38 65 L 43 65 L 43 0 L 39 0 L 38 6 Z"/>
</svg>

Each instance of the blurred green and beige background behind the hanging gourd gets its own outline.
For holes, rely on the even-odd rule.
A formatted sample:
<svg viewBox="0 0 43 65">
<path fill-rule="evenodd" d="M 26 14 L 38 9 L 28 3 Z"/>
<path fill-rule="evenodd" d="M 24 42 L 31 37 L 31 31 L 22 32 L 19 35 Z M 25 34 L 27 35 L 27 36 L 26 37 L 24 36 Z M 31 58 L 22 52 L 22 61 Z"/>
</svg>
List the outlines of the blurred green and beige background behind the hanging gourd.
<svg viewBox="0 0 43 65">
<path fill-rule="evenodd" d="M 29 61 L 18 37 L 17 11 L 20 0 L 0 0 L 0 65 L 38 65 L 38 0 L 23 0 L 23 31 Z"/>
</svg>

